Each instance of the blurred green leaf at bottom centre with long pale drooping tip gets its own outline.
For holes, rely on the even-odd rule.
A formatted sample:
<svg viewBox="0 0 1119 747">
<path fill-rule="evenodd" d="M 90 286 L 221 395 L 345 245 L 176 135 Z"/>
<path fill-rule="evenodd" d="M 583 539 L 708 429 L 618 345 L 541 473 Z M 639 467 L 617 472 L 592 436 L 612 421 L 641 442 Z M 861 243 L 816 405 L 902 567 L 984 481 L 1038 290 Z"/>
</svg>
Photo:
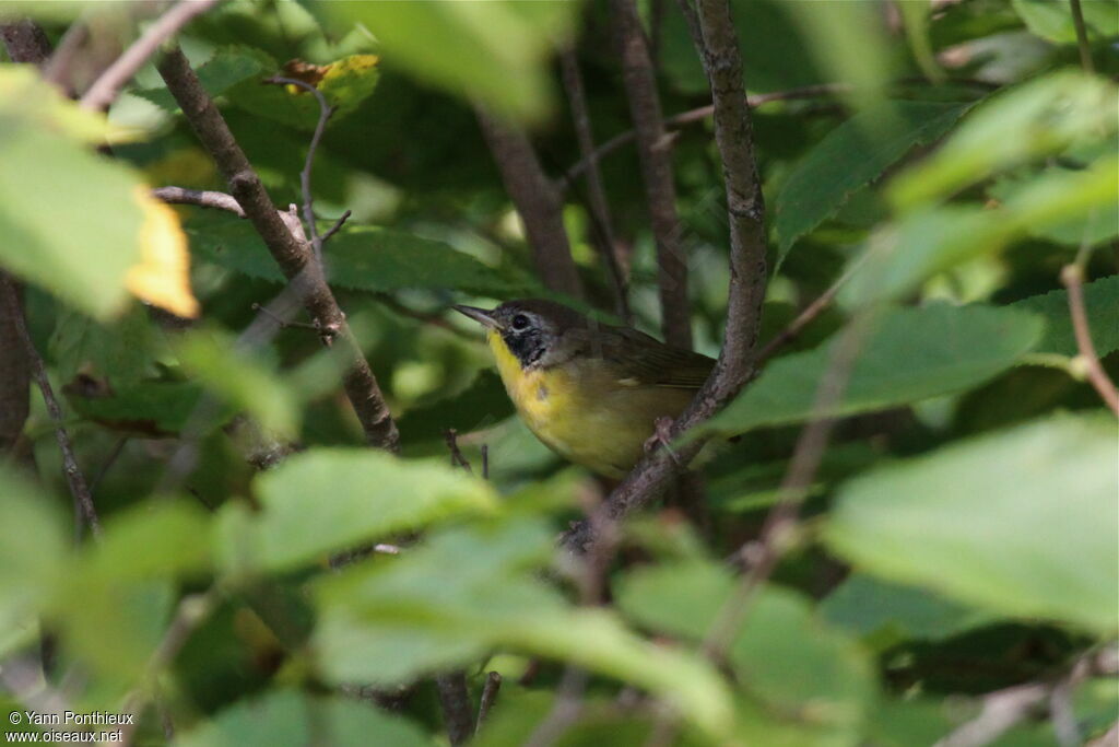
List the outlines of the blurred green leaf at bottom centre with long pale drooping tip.
<svg viewBox="0 0 1119 747">
<path fill-rule="evenodd" d="M 312 644 L 326 675 L 408 681 L 507 647 L 646 689 L 725 739 L 731 702 L 714 670 L 643 641 L 605 609 L 571 607 L 537 572 L 553 551 L 537 522 L 457 527 L 320 581 Z"/>
</svg>

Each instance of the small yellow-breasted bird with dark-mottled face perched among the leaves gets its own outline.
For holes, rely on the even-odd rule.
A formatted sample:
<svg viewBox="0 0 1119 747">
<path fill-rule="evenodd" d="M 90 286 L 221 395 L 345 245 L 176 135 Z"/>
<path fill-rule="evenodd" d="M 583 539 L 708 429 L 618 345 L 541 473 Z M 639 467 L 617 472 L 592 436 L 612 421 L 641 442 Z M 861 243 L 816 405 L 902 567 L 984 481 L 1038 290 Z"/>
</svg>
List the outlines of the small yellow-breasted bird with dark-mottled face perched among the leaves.
<svg viewBox="0 0 1119 747">
<path fill-rule="evenodd" d="M 565 459 L 613 479 L 637 464 L 657 423 L 679 415 L 715 365 L 554 301 L 454 309 L 486 327 L 501 381 L 529 430 Z"/>
</svg>

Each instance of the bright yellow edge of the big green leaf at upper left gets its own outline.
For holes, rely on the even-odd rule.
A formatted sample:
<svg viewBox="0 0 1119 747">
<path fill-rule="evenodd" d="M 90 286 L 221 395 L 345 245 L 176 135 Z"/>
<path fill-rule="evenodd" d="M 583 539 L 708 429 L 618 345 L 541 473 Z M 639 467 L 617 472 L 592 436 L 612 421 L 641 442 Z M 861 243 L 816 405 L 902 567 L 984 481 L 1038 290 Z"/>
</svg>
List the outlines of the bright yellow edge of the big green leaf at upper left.
<svg viewBox="0 0 1119 747">
<path fill-rule="evenodd" d="M 190 253 L 179 216 L 143 187 L 133 195 L 144 221 L 140 228 L 140 263 L 129 269 L 124 284 L 137 298 L 176 316 L 198 316 L 198 300 L 190 292 Z"/>
</svg>

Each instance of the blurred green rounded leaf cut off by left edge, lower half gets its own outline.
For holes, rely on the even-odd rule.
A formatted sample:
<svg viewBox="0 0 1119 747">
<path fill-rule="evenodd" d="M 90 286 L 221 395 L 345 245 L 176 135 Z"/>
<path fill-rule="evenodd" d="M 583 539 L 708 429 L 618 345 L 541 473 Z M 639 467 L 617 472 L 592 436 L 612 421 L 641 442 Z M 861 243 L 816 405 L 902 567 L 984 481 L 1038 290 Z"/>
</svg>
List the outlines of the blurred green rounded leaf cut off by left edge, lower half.
<svg viewBox="0 0 1119 747">
<path fill-rule="evenodd" d="M 53 502 L 7 464 L 0 464 L 0 629 L 40 611 L 58 582 L 69 550 Z"/>
</svg>

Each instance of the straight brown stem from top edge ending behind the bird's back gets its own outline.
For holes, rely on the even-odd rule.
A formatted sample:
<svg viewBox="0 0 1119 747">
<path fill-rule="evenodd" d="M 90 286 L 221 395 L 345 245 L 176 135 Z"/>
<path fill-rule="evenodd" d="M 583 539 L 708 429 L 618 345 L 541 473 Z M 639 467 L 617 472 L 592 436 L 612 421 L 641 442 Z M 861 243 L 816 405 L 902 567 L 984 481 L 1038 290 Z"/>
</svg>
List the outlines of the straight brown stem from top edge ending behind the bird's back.
<svg viewBox="0 0 1119 747">
<path fill-rule="evenodd" d="M 680 221 L 676 213 L 671 139 L 665 130 L 657 94 L 657 76 L 649 45 L 641 30 L 636 0 L 611 0 L 613 31 L 622 60 L 622 78 L 630 116 L 637 131 L 638 157 L 645 183 L 652 235 L 657 242 L 657 281 L 660 293 L 661 332 L 665 342 L 692 347 L 692 309 L 688 304 L 688 264 L 680 245 Z"/>
</svg>

